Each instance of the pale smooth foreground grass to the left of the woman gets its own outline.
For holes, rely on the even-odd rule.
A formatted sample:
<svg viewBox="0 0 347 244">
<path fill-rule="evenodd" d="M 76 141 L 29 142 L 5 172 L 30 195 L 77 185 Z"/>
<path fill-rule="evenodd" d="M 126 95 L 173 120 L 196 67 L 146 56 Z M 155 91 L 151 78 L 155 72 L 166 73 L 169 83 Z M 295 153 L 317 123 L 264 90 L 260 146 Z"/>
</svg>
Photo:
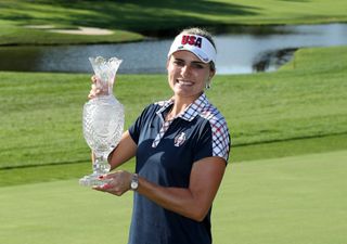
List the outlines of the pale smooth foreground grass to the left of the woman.
<svg viewBox="0 0 347 244">
<path fill-rule="evenodd" d="M 77 179 L 0 191 L 1 243 L 126 243 L 130 193 L 112 197 L 79 187 Z"/>
</svg>

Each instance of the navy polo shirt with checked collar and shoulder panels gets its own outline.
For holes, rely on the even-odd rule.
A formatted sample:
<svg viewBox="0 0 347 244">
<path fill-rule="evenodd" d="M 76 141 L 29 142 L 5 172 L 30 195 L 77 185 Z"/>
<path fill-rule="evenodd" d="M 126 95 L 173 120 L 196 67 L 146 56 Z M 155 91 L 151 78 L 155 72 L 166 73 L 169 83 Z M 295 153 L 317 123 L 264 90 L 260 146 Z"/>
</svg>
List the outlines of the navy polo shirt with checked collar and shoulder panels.
<svg viewBox="0 0 347 244">
<path fill-rule="evenodd" d="M 129 133 L 138 145 L 136 171 L 162 187 L 188 188 L 192 166 L 210 156 L 229 157 L 226 119 L 205 94 L 172 120 L 174 100 L 147 106 Z M 134 193 L 129 244 L 209 244 L 210 209 L 201 222 L 164 209 Z"/>
</svg>

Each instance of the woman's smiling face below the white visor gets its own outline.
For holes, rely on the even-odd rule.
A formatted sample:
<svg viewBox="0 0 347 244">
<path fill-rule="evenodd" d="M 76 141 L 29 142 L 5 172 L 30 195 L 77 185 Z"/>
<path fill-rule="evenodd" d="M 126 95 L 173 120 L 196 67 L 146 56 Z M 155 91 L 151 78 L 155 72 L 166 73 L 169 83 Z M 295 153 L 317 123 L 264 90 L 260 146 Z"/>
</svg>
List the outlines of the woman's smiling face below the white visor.
<svg viewBox="0 0 347 244">
<path fill-rule="evenodd" d="M 167 62 L 168 81 L 180 98 L 194 101 L 204 91 L 206 82 L 215 75 L 209 64 L 203 63 L 189 51 L 178 51 L 171 54 Z"/>
</svg>

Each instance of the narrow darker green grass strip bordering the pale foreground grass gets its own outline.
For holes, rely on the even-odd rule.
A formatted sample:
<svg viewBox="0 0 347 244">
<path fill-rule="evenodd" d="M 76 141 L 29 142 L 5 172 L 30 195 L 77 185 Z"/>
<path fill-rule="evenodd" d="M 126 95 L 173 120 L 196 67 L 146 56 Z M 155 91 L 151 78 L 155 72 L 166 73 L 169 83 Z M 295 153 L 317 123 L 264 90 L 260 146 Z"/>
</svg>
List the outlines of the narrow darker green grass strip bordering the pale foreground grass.
<svg viewBox="0 0 347 244">
<path fill-rule="evenodd" d="M 232 164 L 245 163 L 259 158 L 277 158 L 312 153 L 333 152 L 347 149 L 347 134 L 321 138 L 298 139 L 271 143 L 259 143 L 245 146 L 233 146 Z M 86 152 L 86 156 L 88 153 Z M 133 171 L 134 160 L 120 167 Z M 44 166 L 17 166 L 0 169 L 0 187 L 28 184 L 35 182 L 52 182 L 63 179 L 81 178 L 91 172 L 89 159 L 73 164 L 51 164 Z"/>
</svg>

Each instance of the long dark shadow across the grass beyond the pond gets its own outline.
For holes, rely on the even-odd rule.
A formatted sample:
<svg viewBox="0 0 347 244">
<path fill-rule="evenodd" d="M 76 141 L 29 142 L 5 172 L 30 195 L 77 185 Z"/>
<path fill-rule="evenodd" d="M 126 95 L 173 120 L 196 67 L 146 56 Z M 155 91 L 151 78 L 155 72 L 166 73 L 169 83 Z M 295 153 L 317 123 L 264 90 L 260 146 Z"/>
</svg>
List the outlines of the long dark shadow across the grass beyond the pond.
<svg viewBox="0 0 347 244">
<path fill-rule="evenodd" d="M 222 18 L 223 15 L 245 16 L 257 14 L 257 8 L 206 0 L 184 2 L 176 0 L 36 1 L 36 3 L 38 2 L 46 4 L 43 7 L 46 15 L 43 16 L 36 17 L 42 11 L 41 8 L 38 8 L 38 4 L 22 5 L 17 3 L 7 5 L 7 9 L 15 11 L 21 7 L 21 14 L 0 14 L 0 18 L 29 24 L 39 22 L 42 24 L 59 23 L 67 26 L 95 26 L 145 33 L 157 29 L 178 31 L 178 28 L 194 25 L 213 26 L 214 22 L 206 21 L 205 16 L 208 15 Z M 54 7 L 59 7 L 60 11 L 66 9 L 68 13 L 60 14 L 59 17 L 54 12 Z M 27 14 L 23 14 L 24 11 Z M 220 23 L 220 20 L 218 23 Z"/>
</svg>

